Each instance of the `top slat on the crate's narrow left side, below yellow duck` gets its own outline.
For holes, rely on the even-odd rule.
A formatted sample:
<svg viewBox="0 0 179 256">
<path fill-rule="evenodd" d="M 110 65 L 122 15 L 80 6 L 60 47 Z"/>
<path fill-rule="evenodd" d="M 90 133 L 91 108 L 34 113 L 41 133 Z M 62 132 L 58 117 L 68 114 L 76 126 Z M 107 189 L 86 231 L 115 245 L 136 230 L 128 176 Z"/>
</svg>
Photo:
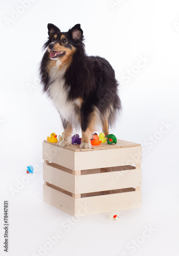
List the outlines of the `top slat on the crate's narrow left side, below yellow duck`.
<svg viewBox="0 0 179 256">
<path fill-rule="evenodd" d="M 43 142 L 43 159 L 74 170 L 74 152 Z"/>
</svg>

